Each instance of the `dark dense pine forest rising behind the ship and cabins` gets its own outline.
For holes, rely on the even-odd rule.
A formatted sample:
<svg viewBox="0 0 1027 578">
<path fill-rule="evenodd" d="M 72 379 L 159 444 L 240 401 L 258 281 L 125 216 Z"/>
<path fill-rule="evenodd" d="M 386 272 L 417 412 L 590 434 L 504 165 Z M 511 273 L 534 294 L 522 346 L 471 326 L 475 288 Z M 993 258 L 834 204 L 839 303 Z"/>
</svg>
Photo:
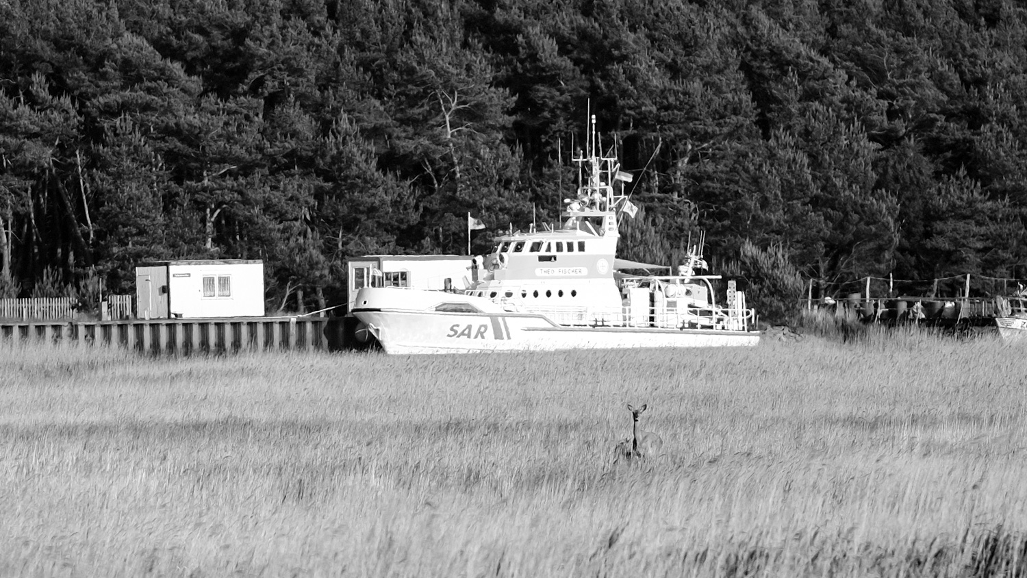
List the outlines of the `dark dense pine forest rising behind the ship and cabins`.
<svg viewBox="0 0 1027 578">
<path fill-rule="evenodd" d="M 0 0 L 0 298 L 262 259 L 331 306 L 350 257 L 556 220 L 589 111 L 627 259 L 1027 277 L 1019 2 Z"/>
</svg>

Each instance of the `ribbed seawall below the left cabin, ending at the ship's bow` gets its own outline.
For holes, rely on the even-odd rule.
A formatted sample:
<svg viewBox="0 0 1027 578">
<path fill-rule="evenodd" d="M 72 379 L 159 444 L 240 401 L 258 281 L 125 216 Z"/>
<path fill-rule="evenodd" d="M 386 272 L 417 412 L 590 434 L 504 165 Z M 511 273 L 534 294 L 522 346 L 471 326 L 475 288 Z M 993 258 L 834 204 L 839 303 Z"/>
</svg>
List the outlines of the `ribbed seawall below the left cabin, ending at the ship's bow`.
<svg viewBox="0 0 1027 578">
<path fill-rule="evenodd" d="M 337 348 L 329 339 L 334 321 L 327 317 L 0 321 L 0 342 L 79 342 L 172 355 L 310 351 Z"/>
</svg>

